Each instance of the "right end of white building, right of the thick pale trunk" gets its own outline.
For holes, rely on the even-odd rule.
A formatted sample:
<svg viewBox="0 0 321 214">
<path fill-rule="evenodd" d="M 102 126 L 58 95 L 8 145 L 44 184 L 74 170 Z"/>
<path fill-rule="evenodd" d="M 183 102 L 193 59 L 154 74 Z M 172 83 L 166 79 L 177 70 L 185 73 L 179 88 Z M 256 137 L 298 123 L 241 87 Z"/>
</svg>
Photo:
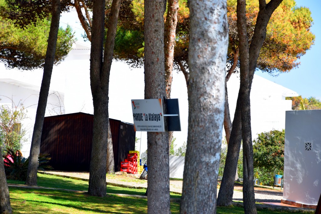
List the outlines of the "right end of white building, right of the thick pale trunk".
<svg viewBox="0 0 321 214">
<path fill-rule="evenodd" d="M 233 74 L 227 82 L 231 120 L 233 121 L 239 93 L 239 76 Z M 285 128 L 285 111 L 291 110 L 291 100 L 283 97 L 299 96 L 295 91 L 254 74 L 251 88 L 252 140 L 258 133 Z M 225 133 L 223 133 L 223 136 Z"/>
</svg>

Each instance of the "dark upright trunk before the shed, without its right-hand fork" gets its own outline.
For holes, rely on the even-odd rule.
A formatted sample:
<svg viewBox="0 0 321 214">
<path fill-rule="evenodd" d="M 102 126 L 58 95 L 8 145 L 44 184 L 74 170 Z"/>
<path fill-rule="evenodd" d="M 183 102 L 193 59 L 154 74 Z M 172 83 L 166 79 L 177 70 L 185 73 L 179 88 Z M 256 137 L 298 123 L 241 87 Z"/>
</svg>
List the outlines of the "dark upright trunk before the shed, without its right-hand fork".
<svg viewBox="0 0 321 214">
<path fill-rule="evenodd" d="M 106 161 L 108 138 L 108 91 L 102 90 L 105 1 L 96 0 L 92 10 L 90 86 L 94 106 L 93 138 L 88 193 L 106 196 Z M 107 109 L 106 109 L 107 106 Z M 100 154 L 97 156 L 97 154 Z"/>
</svg>

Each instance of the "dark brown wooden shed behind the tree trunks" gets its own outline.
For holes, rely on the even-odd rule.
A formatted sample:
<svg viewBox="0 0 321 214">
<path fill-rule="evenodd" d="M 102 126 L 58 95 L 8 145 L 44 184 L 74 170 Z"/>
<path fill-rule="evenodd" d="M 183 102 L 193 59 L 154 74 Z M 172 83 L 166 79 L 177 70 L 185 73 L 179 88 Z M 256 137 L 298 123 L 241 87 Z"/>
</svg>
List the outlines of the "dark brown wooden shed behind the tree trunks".
<svg viewBox="0 0 321 214">
<path fill-rule="evenodd" d="M 134 125 L 109 118 L 113 140 L 115 171 L 120 161 L 135 148 Z M 89 172 L 93 115 L 73 113 L 45 117 L 40 153 L 49 153 L 55 170 Z M 107 132 L 107 130 L 106 130 Z M 99 154 L 99 151 L 97 151 Z"/>
</svg>

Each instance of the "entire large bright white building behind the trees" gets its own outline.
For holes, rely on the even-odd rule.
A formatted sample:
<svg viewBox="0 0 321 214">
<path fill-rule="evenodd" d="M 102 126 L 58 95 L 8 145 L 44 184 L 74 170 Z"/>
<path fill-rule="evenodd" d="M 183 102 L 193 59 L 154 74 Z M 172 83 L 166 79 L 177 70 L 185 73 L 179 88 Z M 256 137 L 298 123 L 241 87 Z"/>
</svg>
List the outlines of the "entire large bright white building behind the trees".
<svg viewBox="0 0 321 214">
<path fill-rule="evenodd" d="M 50 85 L 50 96 L 46 115 L 85 112 L 93 114 L 92 96 L 89 75 L 90 47 L 76 43 L 65 61 L 54 66 Z M 39 89 L 42 79 L 42 69 L 34 71 L 19 71 L 6 69 L 0 64 L 0 105 L 23 101 L 28 110 L 30 119 L 23 124 L 28 128 L 28 140 L 23 146 L 23 154 L 29 155 L 31 133 L 37 108 Z M 172 84 L 172 98 L 179 98 L 181 132 L 174 132 L 177 138 L 175 143 L 180 146 L 187 141 L 188 102 L 187 87 L 182 73 L 174 72 Z M 228 81 L 228 94 L 231 118 L 235 111 L 236 99 L 239 90 L 239 78 L 233 74 Z M 285 128 L 285 111 L 291 110 L 291 100 L 285 97 L 298 96 L 298 94 L 281 85 L 268 81 L 258 75 L 254 76 L 251 90 L 251 123 L 252 136 L 257 133 L 281 130 Z M 133 123 L 131 99 L 144 98 L 143 68 L 130 68 L 124 62 L 114 61 L 111 67 L 109 84 L 109 116 L 124 122 Z M 52 111 L 53 106 L 59 110 Z M 61 109 L 60 109 L 61 107 Z M 224 133 L 223 133 L 224 135 Z M 138 150 L 147 149 L 146 133 L 136 133 L 142 138 Z"/>
</svg>

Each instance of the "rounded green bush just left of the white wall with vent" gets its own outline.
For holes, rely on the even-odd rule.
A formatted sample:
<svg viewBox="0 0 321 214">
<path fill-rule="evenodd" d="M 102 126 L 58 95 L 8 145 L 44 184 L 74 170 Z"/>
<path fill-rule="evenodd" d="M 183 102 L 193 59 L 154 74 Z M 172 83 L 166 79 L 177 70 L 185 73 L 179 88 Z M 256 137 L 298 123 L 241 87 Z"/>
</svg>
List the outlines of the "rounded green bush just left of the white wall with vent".
<svg viewBox="0 0 321 214">
<path fill-rule="evenodd" d="M 284 129 L 262 132 L 253 140 L 254 177 L 263 185 L 273 185 L 274 175 L 283 175 Z"/>
</svg>

